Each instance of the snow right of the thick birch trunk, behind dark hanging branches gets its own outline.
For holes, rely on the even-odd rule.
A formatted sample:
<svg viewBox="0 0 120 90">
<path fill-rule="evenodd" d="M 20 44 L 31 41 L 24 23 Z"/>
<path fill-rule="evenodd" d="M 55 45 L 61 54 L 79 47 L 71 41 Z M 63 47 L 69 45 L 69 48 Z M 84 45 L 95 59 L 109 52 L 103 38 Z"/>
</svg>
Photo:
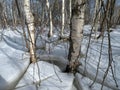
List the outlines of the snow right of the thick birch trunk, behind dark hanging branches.
<svg viewBox="0 0 120 90">
<path fill-rule="evenodd" d="M 85 31 L 84 33 L 90 34 L 90 25 L 87 25 L 84 27 Z M 94 34 L 94 33 L 92 33 Z M 104 86 L 107 87 L 103 88 L 103 90 L 119 90 L 120 89 L 120 70 L 118 70 L 120 68 L 120 29 L 114 29 L 113 32 L 110 33 L 111 35 L 111 45 L 112 45 L 112 54 L 113 54 L 113 63 L 112 63 L 112 67 L 114 70 L 114 75 L 115 75 L 115 79 L 117 81 L 118 87 L 116 87 L 115 81 L 113 79 L 113 75 L 111 70 L 109 70 L 108 75 L 104 81 Z M 93 85 L 93 87 L 98 87 L 98 89 L 94 89 L 94 88 L 89 88 L 89 85 L 92 84 L 93 80 L 95 79 L 96 76 L 96 72 L 97 72 L 97 65 L 99 62 L 99 56 L 100 56 L 100 46 L 101 46 L 101 41 L 102 38 L 100 39 L 95 39 L 94 37 L 91 38 L 91 43 L 90 43 L 90 48 L 88 50 L 88 56 L 86 59 L 86 64 L 85 64 L 85 54 L 86 54 L 86 50 L 87 50 L 87 45 L 88 45 L 88 36 L 84 36 L 83 38 L 83 42 L 82 42 L 82 53 L 84 55 L 84 57 L 82 57 L 80 59 L 80 62 L 82 62 L 82 66 L 79 67 L 78 71 L 82 74 L 85 75 L 88 81 L 86 81 L 86 79 L 81 80 L 81 76 L 80 74 L 77 75 L 75 78 L 78 78 L 81 80 L 79 86 L 81 86 L 83 89 L 82 90 L 99 90 L 101 89 L 101 84 L 103 81 L 103 76 L 105 74 L 105 71 L 108 67 L 108 63 L 109 63 L 109 59 L 108 59 L 108 39 L 107 39 L 107 32 L 105 32 L 105 38 L 103 41 L 103 50 L 102 50 L 102 56 L 100 59 L 100 65 L 99 65 L 99 72 L 98 72 L 98 76 L 96 79 L 95 84 Z M 86 71 L 85 71 L 85 66 L 86 66 Z M 91 82 L 92 80 L 92 82 Z M 83 82 L 85 82 L 85 85 L 83 85 Z M 89 82 L 89 84 L 88 84 Z M 87 89 L 84 89 L 84 87 L 88 87 Z"/>
</svg>

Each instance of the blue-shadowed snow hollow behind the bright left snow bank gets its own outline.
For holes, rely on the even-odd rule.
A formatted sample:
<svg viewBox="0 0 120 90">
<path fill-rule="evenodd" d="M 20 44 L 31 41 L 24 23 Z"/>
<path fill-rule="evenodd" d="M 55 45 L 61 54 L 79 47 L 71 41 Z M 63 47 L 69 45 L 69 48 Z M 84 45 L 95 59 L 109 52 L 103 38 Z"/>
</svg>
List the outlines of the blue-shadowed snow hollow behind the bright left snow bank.
<svg viewBox="0 0 120 90">
<path fill-rule="evenodd" d="M 7 30 L 3 31 L 3 39 L 12 48 L 27 51 L 21 31 L 12 31 L 10 28 L 8 28 Z"/>
</svg>

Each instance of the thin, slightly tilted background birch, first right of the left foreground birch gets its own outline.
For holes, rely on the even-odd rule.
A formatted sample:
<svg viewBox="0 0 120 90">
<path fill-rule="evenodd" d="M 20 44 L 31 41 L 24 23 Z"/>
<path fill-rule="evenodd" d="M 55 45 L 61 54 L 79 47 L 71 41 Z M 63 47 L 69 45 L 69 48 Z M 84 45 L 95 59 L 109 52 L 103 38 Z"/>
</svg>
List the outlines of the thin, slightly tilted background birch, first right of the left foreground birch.
<svg viewBox="0 0 120 90">
<path fill-rule="evenodd" d="M 50 23 L 48 37 L 51 37 L 53 35 L 53 22 L 52 22 L 52 12 L 51 12 L 51 8 L 50 8 L 50 3 L 48 0 L 46 0 L 46 6 L 48 9 L 48 13 L 49 13 L 49 23 Z"/>
</svg>

